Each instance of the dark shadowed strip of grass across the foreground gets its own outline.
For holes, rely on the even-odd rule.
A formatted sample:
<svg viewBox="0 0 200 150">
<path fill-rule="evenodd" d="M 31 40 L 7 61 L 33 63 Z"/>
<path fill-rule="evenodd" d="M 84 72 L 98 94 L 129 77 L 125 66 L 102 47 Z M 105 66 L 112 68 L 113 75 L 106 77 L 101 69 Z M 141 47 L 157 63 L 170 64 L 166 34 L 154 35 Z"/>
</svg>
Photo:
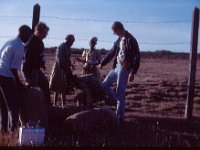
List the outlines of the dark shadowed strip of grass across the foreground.
<svg viewBox="0 0 200 150">
<path fill-rule="evenodd" d="M 197 147 L 200 146 L 200 118 L 135 116 L 110 131 L 87 136 L 72 134 L 63 124 L 52 126 L 46 146 L 75 147 Z"/>
</svg>

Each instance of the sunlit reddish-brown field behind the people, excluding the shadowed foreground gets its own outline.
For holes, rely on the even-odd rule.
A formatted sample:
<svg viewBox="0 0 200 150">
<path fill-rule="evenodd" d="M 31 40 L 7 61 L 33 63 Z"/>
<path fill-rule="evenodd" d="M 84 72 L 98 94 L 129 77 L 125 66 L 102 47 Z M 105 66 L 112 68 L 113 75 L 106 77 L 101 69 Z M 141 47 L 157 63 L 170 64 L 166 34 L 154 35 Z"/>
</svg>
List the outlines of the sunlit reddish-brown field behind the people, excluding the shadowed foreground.
<svg viewBox="0 0 200 150">
<path fill-rule="evenodd" d="M 163 55 L 163 56 L 162 56 Z M 185 113 L 187 97 L 187 82 L 189 75 L 189 55 L 176 56 L 162 54 L 142 55 L 141 65 L 133 82 L 128 83 L 126 90 L 126 118 L 133 114 L 150 114 L 161 116 L 182 117 Z M 165 56 L 169 55 L 169 56 Z M 55 54 L 46 53 L 47 77 L 50 76 Z M 154 57 L 153 57 L 154 56 Z M 74 74 L 81 74 L 82 64 L 75 61 L 78 54 L 72 55 L 75 66 Z M 100 70 L 102 78 L 105 78 L 111 70 L 112 62 Z M 67 95 L 66 105 L 71 104 L 71 95 Z M 194 97 L 194 116 L 200 116 L 200 62 L 197 60 L 196 84 Z M 73 105 L 73 104 L 71 104 Z"/>
</svg>

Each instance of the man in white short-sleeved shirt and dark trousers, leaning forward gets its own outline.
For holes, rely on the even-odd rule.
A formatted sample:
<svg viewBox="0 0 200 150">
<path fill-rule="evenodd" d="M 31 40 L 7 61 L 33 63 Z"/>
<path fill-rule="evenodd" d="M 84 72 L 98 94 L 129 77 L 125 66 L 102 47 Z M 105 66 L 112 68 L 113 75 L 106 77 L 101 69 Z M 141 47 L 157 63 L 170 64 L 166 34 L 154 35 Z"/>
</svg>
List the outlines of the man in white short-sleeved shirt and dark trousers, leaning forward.
<svg viewBox="0 0 200 150">
<path fill-rule="evenodd" d="M 2 132 L 14 132 L 19 121 L 20 90 L 18 75 L 24 57 L 24 45 L 32 34 L 27 25 L 19 27 L 18 36 L 6 42 L 0 50 L 0 110 Z M 10 117 L 9 117 L 10 113 Z"/>
</svg>

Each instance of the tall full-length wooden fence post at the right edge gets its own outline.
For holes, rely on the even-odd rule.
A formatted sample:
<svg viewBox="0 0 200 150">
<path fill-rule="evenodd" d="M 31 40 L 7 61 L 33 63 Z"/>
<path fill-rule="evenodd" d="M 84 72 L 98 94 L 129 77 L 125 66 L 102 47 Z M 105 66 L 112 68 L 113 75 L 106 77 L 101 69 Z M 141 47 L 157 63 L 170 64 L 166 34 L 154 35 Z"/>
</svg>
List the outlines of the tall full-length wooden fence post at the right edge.
<svg viewBox="0 0 200 150">
<path fill-rule="evenodd" d="M 189 79 L 187 89 L 187 101 L 185 107 L 185 118 L 191 119 L 193 112 L 193 99 L 195 90 L 195 75 L 197 62 L 197 46 L 198 46 L 198 28 L 199 28 L 199 8 L 195 7 L 193 10 L 193 24 L 191 35 L 191 49 L 190 49 L 190 65 L 189 65 Z"/>
</svg>

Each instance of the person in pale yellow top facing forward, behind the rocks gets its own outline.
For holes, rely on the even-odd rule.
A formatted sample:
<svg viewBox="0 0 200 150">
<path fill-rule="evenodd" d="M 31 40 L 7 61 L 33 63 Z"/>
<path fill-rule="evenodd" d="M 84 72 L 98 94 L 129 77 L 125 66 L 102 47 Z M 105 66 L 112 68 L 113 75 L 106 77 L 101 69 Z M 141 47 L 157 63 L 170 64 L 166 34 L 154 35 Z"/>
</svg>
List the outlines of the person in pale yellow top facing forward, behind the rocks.
<svg viewBox="0 0 200 150">
<path fill-rule="evenodd" d="M 82 58 L 84 61 L 82 72 L 83 74 L 93 74 L 98 81 L 101 81 L 100 71 L 97 68 L 101 62 L 101 55 L 95 48 L 97 40 L 97 37 L 92 37 L 89 41 L 90 49 L 84 50 L 82 53 Z"/>
</svg>

